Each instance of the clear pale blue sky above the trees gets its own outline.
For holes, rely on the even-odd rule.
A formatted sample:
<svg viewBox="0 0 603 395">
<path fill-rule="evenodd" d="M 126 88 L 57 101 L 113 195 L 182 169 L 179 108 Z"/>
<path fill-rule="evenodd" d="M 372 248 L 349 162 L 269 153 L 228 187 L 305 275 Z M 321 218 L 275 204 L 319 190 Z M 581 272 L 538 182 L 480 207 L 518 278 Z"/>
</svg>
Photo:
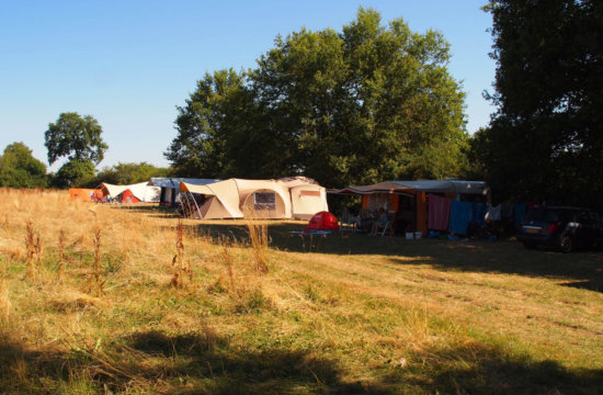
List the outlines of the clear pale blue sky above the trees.
<svg viewBox="0 0 603 395">
<path fill-rule="evenodd" d="M 205 72 L 255 67 L 277 34 L 341 31 L 359 7 L 384 24 L 442 32 L 450 72 L 467 93 L 467 131 L 493 108 L 494 63 L 487 0 L 0 0 L 0 150 L 23 142 L 47 161 L 44 132 L 61 112 L 94 116 L 109 144 L 99 168 L 147 161 L 168 166 L 183 105 Z M 56 170 L 61 162 L 54 165 Z"/>
</svg>

